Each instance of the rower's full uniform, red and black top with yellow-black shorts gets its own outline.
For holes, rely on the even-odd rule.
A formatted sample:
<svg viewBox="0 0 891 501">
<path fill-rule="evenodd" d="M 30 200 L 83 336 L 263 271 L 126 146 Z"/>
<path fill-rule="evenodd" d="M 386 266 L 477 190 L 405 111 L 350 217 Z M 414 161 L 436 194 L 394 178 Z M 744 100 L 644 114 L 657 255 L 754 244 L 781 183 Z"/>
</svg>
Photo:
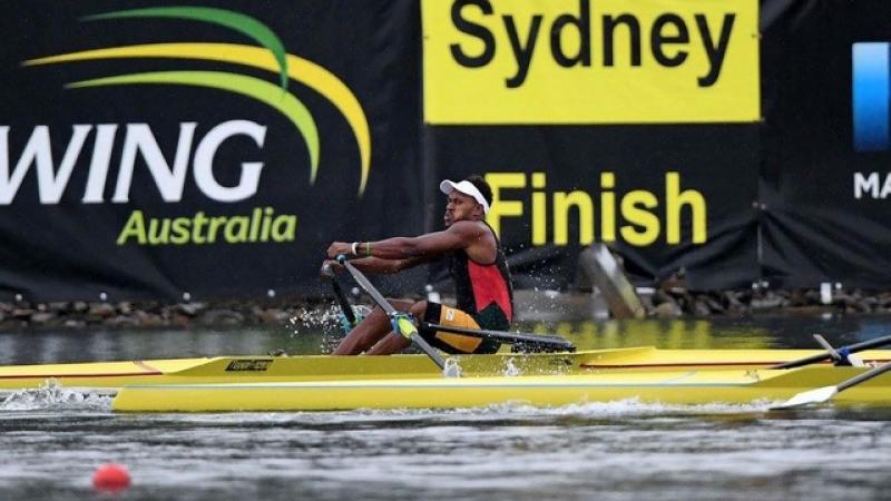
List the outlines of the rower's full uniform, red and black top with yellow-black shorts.
<svg viewBox="0 0 891 501">
<path fill-rule="evenodd" d="M 492 228 L 489 230 L 492 232 Z M 458 307 L 429 303 L 424 321 L 464 328 L 510 328 L 513 320 L 513 286 L 501 243 L 498 237 L 495 239 L 497 253 L 493 263 L 477 263 L 463 249 L 452 253 L 450 271 Z M 447 353 L 495 353 L 500 347 L 500 343 L 491 340 L 442 331 L 421 330 L 421 334 L 430 344 Z"/>
</svg>

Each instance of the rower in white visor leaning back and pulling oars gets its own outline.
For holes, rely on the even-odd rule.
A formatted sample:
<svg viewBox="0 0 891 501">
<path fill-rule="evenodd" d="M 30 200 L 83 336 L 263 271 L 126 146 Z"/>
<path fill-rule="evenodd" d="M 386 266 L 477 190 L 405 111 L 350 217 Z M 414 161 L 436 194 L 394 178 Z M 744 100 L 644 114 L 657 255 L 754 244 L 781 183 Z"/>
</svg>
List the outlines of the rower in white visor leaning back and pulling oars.
<svg viewBox="0 0 891 501">
<path fill-rule="evenodd" d="M 323 269 L 336 272 L 343 265 L 339 255 L 354 256 L 350 263 L 369 274 L 393 274 L 440 258 L 450 258 L 456 284 L 457 307 L 430 301 L 391 301 L 392 306 L 423 323 L 469 330 L 507 331 L 513 318 L 513 288 L 505 252 L 486 223 L 492 190 L 480 176 L 461 181 L 443 180 L 440 190 L 448 197 L 444 229 L 415 237 L 393 237 L 378 242 L 334 242 L 327 248 Z M 432 346 L 447 353 L 495 353 L 497 341 L 431 328 L 420 330 Z M 394 333 L 391 318 L 375 308 L 359 323 L 334 351 L 335 355 L 389 355 L 411 342 Z"/>
</svg>

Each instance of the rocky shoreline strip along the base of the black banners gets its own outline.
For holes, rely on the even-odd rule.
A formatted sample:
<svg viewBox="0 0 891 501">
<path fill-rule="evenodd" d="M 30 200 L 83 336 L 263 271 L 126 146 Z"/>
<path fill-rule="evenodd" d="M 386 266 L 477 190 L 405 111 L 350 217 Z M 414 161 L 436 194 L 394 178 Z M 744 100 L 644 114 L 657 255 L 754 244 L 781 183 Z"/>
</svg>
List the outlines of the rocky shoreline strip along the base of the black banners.
<svg viewBox="0 0 891 501">
<path fill-rule="evenodd" d="M 540 301 L 526 299 L 518 294 L 518 311 L 541 307 Z M 569 298 L 587 302 L 590 294 L 548 292 L 552 299 Z M 642 296 L 650 317 L 708 317 L 789 314 L 891 314 L 891 292 L 833 291 L 831 301 L 820 291 L 722 291 L 689 292 L 684 288 L 657 289 Z M 556 301 L 555 304 L 560 303 Z M 549 308 L 548 306 L 545 306 Z M 550 310 L 550 308 L 549 308 Z M 0 328 L 20 331 L 32 328 L 189 328 L 245 325 L 282 326 L 296 323 L 313 324 L 336 312 L 326 298 L 291 298 L 275 301 L 226 301 L 213 303 L 161 302 L 58 302 L 31 304 L 0 303 Z M 560 312 L 551 312 L 559 314 Z M 567 315 L 568 317 L 577 315 Z M 526 315 L 535 320 L 535 315 Z"/>
</svg>

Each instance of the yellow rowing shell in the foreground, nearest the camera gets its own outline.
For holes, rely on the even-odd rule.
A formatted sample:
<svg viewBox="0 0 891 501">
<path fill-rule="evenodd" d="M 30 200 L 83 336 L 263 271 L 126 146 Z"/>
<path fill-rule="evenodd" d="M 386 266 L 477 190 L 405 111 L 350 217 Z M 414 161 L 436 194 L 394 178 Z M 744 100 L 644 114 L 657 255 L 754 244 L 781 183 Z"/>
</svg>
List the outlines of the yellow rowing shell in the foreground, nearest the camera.
<svg viewBox="0 0 891 501">
<path fill-rule="evenodd" d="M 457 409 L 498 404 L 561 406 L 636 399 L 667 404 L 781 402 L 838 384 L 865 367 L 812 365 L 791 370 L 685 369 L 593 371 L 587 374 L 414 377 L 238 384 L 125 386 L 112 401 L 123 412 L 337 411 Z M 891 405 L 891 373 L 841 392 L 842 405 Z"/>
</svg>

